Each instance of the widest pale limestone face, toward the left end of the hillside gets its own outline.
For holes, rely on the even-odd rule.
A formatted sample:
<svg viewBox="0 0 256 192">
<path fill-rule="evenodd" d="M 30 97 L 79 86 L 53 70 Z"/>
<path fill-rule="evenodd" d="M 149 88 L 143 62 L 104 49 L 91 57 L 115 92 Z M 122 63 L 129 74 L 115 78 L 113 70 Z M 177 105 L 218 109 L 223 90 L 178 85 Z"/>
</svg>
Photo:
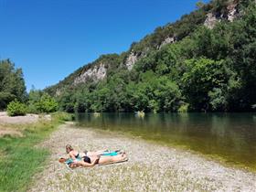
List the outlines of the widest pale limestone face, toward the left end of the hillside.
<svg viewBox="0 0 256 192">
<path fill-rule="evenodd" d="M 74 80 L 74 85 L 86 82 L 87 80 L 103 80 L 106 75 L 107 69 L 105 68 L 105 65 L 101 63 L 99 66 L 94 66 L 80 74 L 80 76 Z"/>
</svg>

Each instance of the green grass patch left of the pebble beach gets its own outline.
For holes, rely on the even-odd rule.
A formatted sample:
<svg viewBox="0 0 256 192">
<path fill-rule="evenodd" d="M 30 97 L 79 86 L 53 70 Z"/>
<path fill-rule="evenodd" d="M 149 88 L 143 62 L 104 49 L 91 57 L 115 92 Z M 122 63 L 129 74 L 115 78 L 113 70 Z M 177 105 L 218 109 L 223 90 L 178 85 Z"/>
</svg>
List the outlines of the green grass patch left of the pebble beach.
<svg viewBox="0 0 256 192">
<path fill-rule="evenodd" d="M 46 164 L 49 152 L 35 147 L 60 123 L 71 120 L 67 113 L 53 113 L 51 121 L 22 126 L 24 137 L 9 135 L 0 138 L 0 191 L 26 191 L 32 177 Z M 16 125 L 12 125 L 16 126 Z"/>
</svg>

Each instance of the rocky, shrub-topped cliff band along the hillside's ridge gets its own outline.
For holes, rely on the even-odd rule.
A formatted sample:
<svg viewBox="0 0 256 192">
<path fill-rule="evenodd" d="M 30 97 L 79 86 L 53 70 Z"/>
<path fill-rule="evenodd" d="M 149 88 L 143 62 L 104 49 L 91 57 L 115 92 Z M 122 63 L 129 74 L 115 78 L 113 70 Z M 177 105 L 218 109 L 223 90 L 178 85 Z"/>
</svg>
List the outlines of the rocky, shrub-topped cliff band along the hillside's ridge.
<svg viewBox="0 0 256 192">
<path fill-rule="evenodd" d="M 147 55 L 149 50 L 158 51 L 167 44 L 175 43 L 184 37 L 187 37 L 193 30 L 200 25 L 208 28 L 213 28 L 222 20 L 232 22 L 240 15 L 239 3 L 242 0 L 221 0 L 223 7 L 215 7 L 216 0 L 211 1 L 208 5 L 204 5 L 190 15 L 182 16 L 175 23 L 158 27 L 155 32 L 144 37 L 140 42 L 133 43 L 131 48 L 122 55 L 117 55 L 118 59 L 97 59 L 90 65 L 85 65 L 77 71 L 73 72 L 65 80 L 61 80 L 57 85 L 47 89 L 56 95 L 60 94 L 61 90 L 67 86 L 78 86 L 81 83 L 86 83 L 88 80 L 99 81 L 107 77 L 109 69 L 119 69 L 124 66 L 125 69 L 131 71 L 133 66 L 140 59 Z"/>
</svg>

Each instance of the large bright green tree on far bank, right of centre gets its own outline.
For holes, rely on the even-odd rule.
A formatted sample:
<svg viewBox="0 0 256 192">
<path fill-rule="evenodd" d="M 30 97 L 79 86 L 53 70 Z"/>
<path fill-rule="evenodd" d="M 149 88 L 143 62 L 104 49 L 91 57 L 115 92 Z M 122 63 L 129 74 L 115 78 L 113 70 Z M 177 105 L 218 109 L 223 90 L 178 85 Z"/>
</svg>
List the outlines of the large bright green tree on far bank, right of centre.
<svg viewBox="0 0 256 192">
<path fill-rule="evenodd" d="M 182 77 L 182 87 L 192 109 L 209 110 L 209 95 L 213 97 L 214 90 L 226 84 L 229 74 L 226 72 L 223 60 L 188 59 L 185 61 L 187 72 Z"/>
</svg>

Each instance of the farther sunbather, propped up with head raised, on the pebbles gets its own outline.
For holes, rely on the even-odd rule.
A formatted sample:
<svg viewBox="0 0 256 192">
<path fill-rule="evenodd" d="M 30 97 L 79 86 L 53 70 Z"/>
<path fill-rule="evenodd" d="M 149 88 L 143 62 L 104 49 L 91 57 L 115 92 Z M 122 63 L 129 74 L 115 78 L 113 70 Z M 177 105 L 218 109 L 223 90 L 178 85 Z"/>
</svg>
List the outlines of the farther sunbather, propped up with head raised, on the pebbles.
<svg viewBox="0 0 256 192">
<path fill-rule="evenodd" d="M 70 144 L 66 145 L 66 152 L 67 154 L 69 154 L 69 156 L 76 161 L 77 158 L 84 158 L 85 156 L 89 156 L 89 157 L 95 157 L 98 155 L 105 155 L 107 153 L 110 153 L 109 150 L 100 150 L 100 151 L 96 151 L 96 152 L 90 152 L 90 151 L 84 151 L 84 152 L 78 152 L 76 150 L 73 149 L 73 147 Z M 117 152 L 117 151 L 114 151 Z"/>
</svg>

